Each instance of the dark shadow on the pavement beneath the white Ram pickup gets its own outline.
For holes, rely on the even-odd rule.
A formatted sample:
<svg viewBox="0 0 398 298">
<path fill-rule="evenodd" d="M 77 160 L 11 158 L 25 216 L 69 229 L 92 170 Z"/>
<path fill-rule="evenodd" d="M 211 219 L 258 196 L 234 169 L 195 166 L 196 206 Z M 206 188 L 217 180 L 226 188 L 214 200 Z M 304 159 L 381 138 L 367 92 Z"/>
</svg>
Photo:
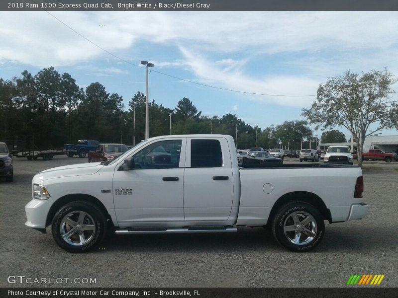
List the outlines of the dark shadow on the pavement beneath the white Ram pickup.
<svg viewBox="0 0 398 298">
<path fill-rule="evenodd" d="M 328 226 L 322 242 L 313 252 L 372 252 L 397 250 L 397 241 L 391 237 L 393 227 L 377 228 Z M 235 251 L 286 251 L 270 230 L 239 228 L 237 233 L 208 234 L 147 234 L 112 235 L 100 245 L 106 251 L 125 252 L 235 252 Z M 95 250 L 96 251 L 96 250 Z"/>
</svg>

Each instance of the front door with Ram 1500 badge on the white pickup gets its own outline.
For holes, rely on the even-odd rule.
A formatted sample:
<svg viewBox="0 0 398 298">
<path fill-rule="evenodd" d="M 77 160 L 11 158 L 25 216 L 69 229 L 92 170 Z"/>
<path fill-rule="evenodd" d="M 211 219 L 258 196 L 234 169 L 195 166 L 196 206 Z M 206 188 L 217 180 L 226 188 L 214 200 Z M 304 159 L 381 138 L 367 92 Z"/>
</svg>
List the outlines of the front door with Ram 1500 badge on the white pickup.
<svg viewBox="0 0 398 298">
<path fill-rule="evenodd" d="M 186 138 L 158 139 L 134 153 L 135 168 L 113 176 L 113 201 L 120 226 L 184 221 Z"/>
</svg>

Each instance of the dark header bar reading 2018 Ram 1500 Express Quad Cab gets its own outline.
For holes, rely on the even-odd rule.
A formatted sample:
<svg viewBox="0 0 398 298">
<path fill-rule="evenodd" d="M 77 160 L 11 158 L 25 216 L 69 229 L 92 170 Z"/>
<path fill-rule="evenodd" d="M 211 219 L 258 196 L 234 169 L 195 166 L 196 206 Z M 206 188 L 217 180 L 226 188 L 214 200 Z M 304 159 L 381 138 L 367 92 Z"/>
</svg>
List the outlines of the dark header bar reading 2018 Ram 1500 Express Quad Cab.
<svg viewBox="0 0 398 298">
<path fill-rule="evenodd" d="M 397 0 L 1 0 L 3 11 L 398 10 Z"/>
</svg>

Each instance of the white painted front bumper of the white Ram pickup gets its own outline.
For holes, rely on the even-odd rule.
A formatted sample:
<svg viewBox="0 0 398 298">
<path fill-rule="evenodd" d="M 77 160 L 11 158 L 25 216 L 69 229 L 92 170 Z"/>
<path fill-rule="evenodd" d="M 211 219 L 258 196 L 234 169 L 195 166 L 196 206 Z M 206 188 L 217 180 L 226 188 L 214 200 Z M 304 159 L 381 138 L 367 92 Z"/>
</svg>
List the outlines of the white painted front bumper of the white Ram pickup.
<svg viewBox="0 0 398 298">
<path fill-rule="evenodd" d="M 51 204 L 48 202 L 48 200 L 32 199 L 25 206 L 27 219 L 25 225 L 35 229 L 45 228 L 50 207 Z"/>
</svg>

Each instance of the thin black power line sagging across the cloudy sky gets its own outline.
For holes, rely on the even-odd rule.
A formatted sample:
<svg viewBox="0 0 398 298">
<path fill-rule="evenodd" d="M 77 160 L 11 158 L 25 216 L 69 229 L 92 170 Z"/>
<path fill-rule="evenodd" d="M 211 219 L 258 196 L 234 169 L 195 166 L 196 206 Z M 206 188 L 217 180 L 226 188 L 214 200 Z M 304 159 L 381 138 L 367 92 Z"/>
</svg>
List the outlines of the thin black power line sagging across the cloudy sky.
<svg viewBox="0 0 398 298">
<path fill-rule="evenodd" d="M 30 0 L 34 3 L 36 3 L 34 0 Z M 37 4 L 37 3 L 36 3 Z M 73 32 L 75 32 L 77 35 L 79 35 L 80 37 L 84 38 L 85 40 L 87 40 L 88 42 L 90 42 L 91 44 L 93 44 L 94 46 L 96 46 L 97 48 L 99 48 L 100 50 L 104 51 L 105 53 L 113 56 L 116 59 L 119 59 L 120 61 L 123 61 L 124 63 L 127 63 L 129 65 L 135 66 L 135 67 L 139 67 L 136 64 L 133 64 L 123 58 L 120 58 L 119 56 L 105 50 L 104 48 L 102 48 L 101 46 L 99 46 L 98 44 L 96 44 L 95 42 L 91 41 L 90 39 L 88 39 L 86 36 L 84 36 L 83 34 L 77 32 L 75 29 L 73 29 L 72 27 L 70 27 L 68 24 L 66 24 L 65 22 L 63 22 L 62 20 L 60 20 L 59 18 L 57 18 L 55 15 L 53 15 L 52 13 L 50 13 L 48 10 L 42 8 L 45 12 L 47 12 L 49 15 L 51 15 L 53 18 L 55 18 L 57 21 L 59 21 L 61 24 L 65 25 L 67 28 L 69 28 L 70 30 L 72 30 Z M 266 93 L 256 93 L 256 92 L 247 92 L 247 91 L 241 91 L 241 90 L 234 90 L 234 89 L 228 89 L 228 88 L 222 88 L 222 87 L 217 87 L 217 86 L 213 86 L 213 85 L 208 85 L 208 84 L 203 84 L 203 83 L 199 83 L 196 81 L 192 81 L 192 80 L 188 80 L 185 78 L 181 78 L 175 75 L 171 75 L 171 74 L 166 74 L 166 73 L 162 73 L 156 70 L 151 70 L 152 72 L 158 73 L 158 74 L 163 74 L 169 77 L 173 77 L 182 81 L 186 81 L 192 84 L 197 84 L 200 86 L 204 86 L 204 87 L 209 87 L 209 88 L 213 88 L 213 89 L 218 89 L 218 90 L 224 90 L 224 91 L 230 91 L 230 92 L 236 92 L 236 93 L 244 93 L 244 94 L 253 94 L 253 95 L 263 95 L 263 96 L 281 96 L 281 97 L 312 97 L 312 96 L 316 96 L 316 95 L 283 95 L 283 94 L 266 94 Z"/>
</svg>

